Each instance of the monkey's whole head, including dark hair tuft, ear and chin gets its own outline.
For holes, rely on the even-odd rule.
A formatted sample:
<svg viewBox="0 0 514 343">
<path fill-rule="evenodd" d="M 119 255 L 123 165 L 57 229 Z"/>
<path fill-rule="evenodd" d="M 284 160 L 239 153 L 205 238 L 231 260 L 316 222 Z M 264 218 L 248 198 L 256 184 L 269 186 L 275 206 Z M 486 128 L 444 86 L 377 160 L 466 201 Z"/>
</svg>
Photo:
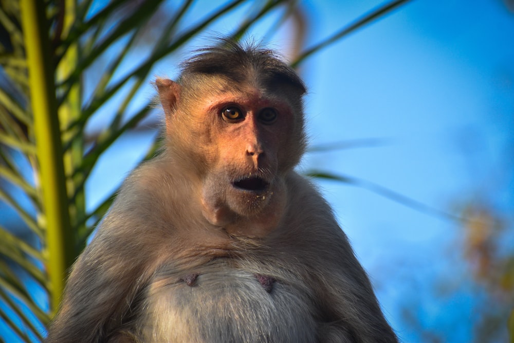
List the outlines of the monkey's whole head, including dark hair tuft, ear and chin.
<svg viewBox="0 0 514 343">
<path fill-rule="evenodd" d="M 156 85 L 167 149 L 200 185 L 209 222 L 276 225 L 285 176 L 305 150 L 295 71 L 271 50 L 223 41 L 187 60 L 177 82 Z"/>
</svg>

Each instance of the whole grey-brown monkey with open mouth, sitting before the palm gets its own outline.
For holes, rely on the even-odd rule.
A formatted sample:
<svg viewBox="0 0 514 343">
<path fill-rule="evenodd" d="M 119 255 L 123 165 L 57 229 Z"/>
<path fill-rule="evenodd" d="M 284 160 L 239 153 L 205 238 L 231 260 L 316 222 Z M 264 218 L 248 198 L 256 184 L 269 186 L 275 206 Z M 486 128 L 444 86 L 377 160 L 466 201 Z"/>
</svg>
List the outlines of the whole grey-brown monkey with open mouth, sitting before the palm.
<svg viewBox="0 0 514 343">
<path fill-rule="evenodd" d="M 222 40 L 155 80 L 163 148 L 71 268 L 48 342 L 397 342 L 332 208 L 300 175 L 306 86 Z"/>
</svg>

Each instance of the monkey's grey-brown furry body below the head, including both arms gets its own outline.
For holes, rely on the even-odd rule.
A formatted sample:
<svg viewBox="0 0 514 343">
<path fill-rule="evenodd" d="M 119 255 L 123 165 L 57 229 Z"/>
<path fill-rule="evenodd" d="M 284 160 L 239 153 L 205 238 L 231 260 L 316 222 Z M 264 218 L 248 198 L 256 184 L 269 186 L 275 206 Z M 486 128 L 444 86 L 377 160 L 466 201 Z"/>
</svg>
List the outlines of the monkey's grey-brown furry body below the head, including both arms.
<svg viewBox="0 0 514 343">
<path fill-rule="evenodd" d="M 125 180 L 72 269 L 48 342 L 397 341 L 308 180 L 277 176 L 285 207 L 269 234 L 229 234 L 204 218 L 201 178 L 172 156 Z"/>
</svg>

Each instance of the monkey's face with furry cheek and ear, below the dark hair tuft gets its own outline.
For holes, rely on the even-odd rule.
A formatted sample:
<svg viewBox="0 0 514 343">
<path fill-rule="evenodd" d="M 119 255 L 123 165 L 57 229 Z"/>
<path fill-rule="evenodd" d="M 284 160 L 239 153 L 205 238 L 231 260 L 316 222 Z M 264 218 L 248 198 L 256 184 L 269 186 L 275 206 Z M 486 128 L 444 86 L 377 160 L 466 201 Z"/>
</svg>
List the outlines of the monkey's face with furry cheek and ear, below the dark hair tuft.
<svg viewBox="0 0 514 343">
<path fill-rule="evenodd" d="M 285 206 L 284 177 L 304 149 L 301 94 L 219 77 L 157 86 L 169 148 L 198 180 L 206 219 L 251 222 L 259 232 L 274 227 Z"/>
</svg>

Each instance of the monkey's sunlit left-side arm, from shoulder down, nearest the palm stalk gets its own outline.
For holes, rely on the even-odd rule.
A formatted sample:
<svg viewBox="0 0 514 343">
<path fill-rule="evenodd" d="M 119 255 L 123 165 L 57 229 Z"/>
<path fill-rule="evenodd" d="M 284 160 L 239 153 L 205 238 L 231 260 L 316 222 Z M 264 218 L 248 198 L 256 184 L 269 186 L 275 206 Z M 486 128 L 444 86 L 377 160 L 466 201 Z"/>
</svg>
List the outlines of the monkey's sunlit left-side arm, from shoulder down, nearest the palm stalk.
<svg viewBox="0 0 514 343">
<path fill-rule="evenodd" d="M 130 317 L 133 300 L 158 260 L 152 234 L 145 233 L 157 224 L 134 188 L 130 184 L 121 190 L 72 268 L 48 342 L 105 342 Z"/>
</svg>

